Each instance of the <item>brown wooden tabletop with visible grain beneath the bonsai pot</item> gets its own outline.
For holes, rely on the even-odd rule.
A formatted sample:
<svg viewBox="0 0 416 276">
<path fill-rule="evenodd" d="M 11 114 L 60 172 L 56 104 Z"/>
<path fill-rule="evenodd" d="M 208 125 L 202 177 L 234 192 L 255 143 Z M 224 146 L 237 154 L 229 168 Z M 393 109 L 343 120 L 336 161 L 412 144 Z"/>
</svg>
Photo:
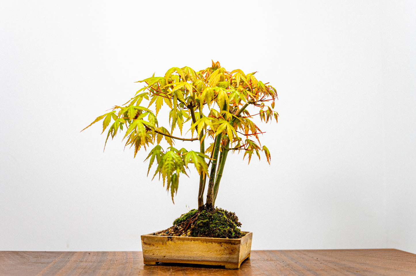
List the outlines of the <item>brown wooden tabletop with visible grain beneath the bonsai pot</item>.
<svg viewBox="0 0 416 276">
<path fill-rule="evenodd" d="M 1 276 L 413 275 L 416 254 L 397 249 L 253 250 L 240 269 L 143 264 L 141 252 L 0 251 Z"/>
</svg>

